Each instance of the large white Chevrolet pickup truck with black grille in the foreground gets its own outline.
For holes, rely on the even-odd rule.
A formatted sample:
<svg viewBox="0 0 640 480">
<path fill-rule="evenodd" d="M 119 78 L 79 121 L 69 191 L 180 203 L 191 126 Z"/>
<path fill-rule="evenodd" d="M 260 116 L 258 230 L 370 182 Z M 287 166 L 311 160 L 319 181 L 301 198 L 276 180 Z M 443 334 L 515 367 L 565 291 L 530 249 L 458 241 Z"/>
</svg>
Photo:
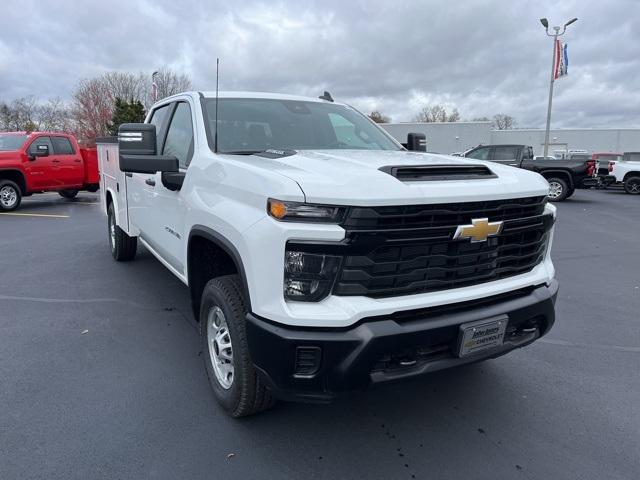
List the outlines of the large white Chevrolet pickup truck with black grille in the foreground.
<svg viewBox="0 0 640 480">
<path fill-rule="evenodd" d="M 188 285 L 234 417 L 530 344 L 555 318 L 548 183 L 425 148 L 327 94 L 166 98 L 98 141 L 111 253 Z"/>
</svg>

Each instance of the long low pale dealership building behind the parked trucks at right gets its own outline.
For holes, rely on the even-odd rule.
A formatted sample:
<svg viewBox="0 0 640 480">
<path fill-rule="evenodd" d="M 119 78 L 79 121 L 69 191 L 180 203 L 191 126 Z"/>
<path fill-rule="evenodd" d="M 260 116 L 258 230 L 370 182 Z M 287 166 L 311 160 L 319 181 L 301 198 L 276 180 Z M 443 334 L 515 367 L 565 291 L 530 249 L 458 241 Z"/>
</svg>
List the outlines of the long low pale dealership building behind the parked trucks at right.
<svg viewBox="0 0 640 480">
<path fill-rule="evenodd" d="M 381 126 L 404 143 L 408 133 L 424 133 L 427 150 L 437 153 L 464 152 L 477 145 L 531 145 L 535 155 L 544 150 L 544 129 L 493 130 L 491 122 L 452 123 L 384 123 Z M 588 152 L 638 152 L 638 128 L 552 129 L 549 154 L 555 150 L 587 150 Z"/>
</svg>

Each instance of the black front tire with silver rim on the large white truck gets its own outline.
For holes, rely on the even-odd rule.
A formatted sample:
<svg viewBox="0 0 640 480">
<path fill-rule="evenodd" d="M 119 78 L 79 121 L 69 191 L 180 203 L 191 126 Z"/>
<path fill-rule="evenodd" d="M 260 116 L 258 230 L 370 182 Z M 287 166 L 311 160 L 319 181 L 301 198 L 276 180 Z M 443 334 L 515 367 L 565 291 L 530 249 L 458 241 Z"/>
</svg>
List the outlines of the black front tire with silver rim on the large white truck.
<svg viewBox="0 0 640 480">
<path fill-rule="evenodd" d="M 253 415 L 267 410 L 274 404 L 273 397 L 260 381 L 249 355 L 245 328 L 246 313 L 247 307 L 238 275 L 214 278 L 205 285 L 200 307 L 202 357 L 216 400 L 234 418 Z M 216 326 L 216 322 L 220 325 Z M 216 328 L 219 328 L 217 332 Z M 223 342 L 229 342 L 228 347 L 219 346 L 220 343 L 214 340 L 218 338 L 216 333 Z M 214 366 L 216 359 L 212 352 L 216 352 L 217 355 L 217 352 L 226 351 L 228 355 L 229 350 L 231 362 L 220 359 L 219 364 L 227 367 L 232 365 L 233 372 L 231 376 L 228 372 L 224 375 L 224 371 L 217 374 Z M 228 382 L 227 385 L 221 383 L 219 376 Z"/>
</svg>

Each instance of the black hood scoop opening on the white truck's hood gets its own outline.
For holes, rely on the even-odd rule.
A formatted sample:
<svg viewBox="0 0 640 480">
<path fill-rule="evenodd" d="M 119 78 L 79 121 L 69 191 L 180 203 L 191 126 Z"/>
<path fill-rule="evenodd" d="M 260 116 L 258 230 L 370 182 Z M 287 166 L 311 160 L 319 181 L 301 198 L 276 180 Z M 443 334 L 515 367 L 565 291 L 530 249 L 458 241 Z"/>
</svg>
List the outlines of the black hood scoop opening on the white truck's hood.
<svg viewBox="0 0 640 480">
<path fill-rule="evenodd" d="M 444 180 L 483 180 L 497 178 L 485 165 L 415 165 L 386 166 L 378 170 L 401 182 L 428 182 Z"/>
</svg>

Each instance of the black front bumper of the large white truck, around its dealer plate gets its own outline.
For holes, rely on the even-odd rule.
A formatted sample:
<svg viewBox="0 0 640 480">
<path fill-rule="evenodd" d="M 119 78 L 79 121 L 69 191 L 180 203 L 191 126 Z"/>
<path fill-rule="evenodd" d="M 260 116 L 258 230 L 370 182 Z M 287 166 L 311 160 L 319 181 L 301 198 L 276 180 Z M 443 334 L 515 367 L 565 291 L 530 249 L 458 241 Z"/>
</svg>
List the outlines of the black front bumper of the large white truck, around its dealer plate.
<svg viewBox="0 0 640 480">
<path fill-rule="evenodd" d="M 370 317 L 356 326 L 284 327 L 247 314 L 247 341 L 256 369 L 285 400 L 326 402 L 373 383 L 414 377 L 503 355 L 546 334 L 555 320 L 558 283 L 487 299 Z M 508 316 L 504 344 L 456 356 L 459 327 Z"/>
</svg>

